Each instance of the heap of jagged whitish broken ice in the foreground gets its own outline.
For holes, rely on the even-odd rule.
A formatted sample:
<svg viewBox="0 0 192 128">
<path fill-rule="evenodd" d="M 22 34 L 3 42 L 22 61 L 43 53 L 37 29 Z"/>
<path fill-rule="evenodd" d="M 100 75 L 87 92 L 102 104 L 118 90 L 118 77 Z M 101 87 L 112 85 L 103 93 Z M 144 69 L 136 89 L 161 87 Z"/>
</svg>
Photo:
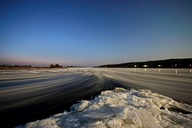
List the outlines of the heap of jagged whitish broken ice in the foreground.
<svg viewBox="0 0 192 128">
<path fill-rule="evenodd" d="M 74 104 L 70 112 L 18 128 L 191 128 L 192 107 L 150 90 L 115 88 Z"/>
</svg>

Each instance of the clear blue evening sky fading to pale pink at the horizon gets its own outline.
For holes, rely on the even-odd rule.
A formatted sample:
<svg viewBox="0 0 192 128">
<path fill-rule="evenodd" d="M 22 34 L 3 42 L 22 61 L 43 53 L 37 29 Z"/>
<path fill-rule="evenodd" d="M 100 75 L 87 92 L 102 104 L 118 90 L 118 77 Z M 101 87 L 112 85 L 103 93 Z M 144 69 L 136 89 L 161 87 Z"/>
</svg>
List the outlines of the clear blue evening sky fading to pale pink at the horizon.
<svg viewBox="0 0 192 128">
<path fill-rule="evenodd" d="M 192 58 L 192 0 L 1 0 L 0 64 Z"/>
</svg>

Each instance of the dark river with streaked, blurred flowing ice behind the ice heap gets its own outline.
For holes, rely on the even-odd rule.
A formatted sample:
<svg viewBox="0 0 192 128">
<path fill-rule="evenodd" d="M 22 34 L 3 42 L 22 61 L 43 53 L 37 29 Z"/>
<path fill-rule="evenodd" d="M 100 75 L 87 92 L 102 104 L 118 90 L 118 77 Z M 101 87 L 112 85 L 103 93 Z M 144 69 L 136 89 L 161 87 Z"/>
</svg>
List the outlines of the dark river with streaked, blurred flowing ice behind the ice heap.
<svg viewBox="0 0 192 128">
<path fill-rule="evenodd" d="M 1 70 L 0 114 L 16 126 L 59 113 L 76 100 L 116 86 L 150 89 L 192 104 L 192 69 Z"/>
</svg>

